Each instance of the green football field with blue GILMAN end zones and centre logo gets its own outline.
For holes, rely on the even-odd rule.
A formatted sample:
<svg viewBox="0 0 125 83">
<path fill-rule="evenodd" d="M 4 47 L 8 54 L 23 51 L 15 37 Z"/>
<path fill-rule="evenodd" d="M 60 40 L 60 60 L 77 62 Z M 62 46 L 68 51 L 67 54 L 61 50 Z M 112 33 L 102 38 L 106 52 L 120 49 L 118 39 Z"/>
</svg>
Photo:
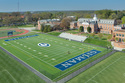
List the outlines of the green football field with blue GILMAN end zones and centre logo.
<svg viewBox="0 0 125 83">
<path fill-rule="evenodd" d="M 2 39 L 0 40 L 0 45 L 50 79 L 70 74 L 109 51 L 105 48 L 69 41 L 45 34 L 16 37 L 15 39 L 10 38 L 6 41 Z M 92 57 L 86 56 L 87 58 L 80 63 L 63 71 L 55 67 L 83 53 L 92 52 L 92 50 L 97 50 L 98 53 L 95 53 Z M 77 57 L 77 59 L 81 60 L 79 57 Z M 66 63 L 67 64 L 63 64 L 65 67 L 71 65 L 68 64 L 68 62 Z"/>
</svg>

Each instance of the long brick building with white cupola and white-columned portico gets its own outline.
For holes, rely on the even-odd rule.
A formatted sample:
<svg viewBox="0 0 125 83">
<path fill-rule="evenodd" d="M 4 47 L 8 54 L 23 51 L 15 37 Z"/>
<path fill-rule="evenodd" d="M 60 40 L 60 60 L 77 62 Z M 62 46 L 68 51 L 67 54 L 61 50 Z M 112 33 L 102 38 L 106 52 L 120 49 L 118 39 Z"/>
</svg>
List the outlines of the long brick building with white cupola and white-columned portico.
<svg viewBox="0 0 125 83">
<path fill-rule="evenodd" d="M 73 25 L 73 24 L 72 24 Z M 114 32 L 114 26 L 116 26 L 116 20 L 111 19 L 98 19 L 96 15 L 93 18 L 79 18 L 77 27 L 84 27 L 84 32 L 87 32 L 87 27 L 91 27 L 91 32 L 100 32 L 106 34 L 112 34 Z M 73 28 L 73 26 L 71 27 Z"/>
</svg>

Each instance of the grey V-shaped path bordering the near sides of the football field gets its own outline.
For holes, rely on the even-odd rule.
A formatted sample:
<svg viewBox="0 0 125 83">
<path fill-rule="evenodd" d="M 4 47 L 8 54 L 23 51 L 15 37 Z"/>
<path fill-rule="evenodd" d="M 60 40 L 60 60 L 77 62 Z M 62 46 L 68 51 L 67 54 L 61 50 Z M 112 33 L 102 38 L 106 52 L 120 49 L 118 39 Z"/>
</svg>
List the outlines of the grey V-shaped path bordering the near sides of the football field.
<svg viewBox="0 0 125 83">
<path fill-rule="evenodd" d="M 70 79 L 72 79 L 73 77 L 75 77 L 75 76 L 77 76 L 78 74 L 80 74 L 80 73 L 82 73 L 83 71 L 85 71 L 86 69 L 88 69 L 88 68 L 90 68 L 91 66 L 93 66 L 93 65 L 95 65 L 96 63 L 98 63 L 98 62 L 100 62 L 100 61 L 102 61 L 102 60 L 104 60 L 105 58 L 107 58 L 108 56 L 110 56 L 111 54 L 113 54 L 113 53 L 115 53 L 116 51 L 112 51 L 112 52 L 110 52 L 110 53 L 108 53 L 108 54 L 106 54 L 106 55 L 104 55 L 104 56 L 101 56 L 100 58 L 98 58 L 98 57 L 95 57 L 95 58 L 98 58 L 98 59 L 96 59 L 95 61 L 93 61 L 93 62 L 91 62 L 91 63 L 89 63 L 89 64 L 87 64 L 86 66 L 84 66 L 84 67 L 82 67 L 81 68 L 81 66 L 83 66 L 83 65 L 80 65 L 78 68 L 79 69 L 77 69 L 77 68 L 74 68 L 74 69 L 72 69 L 72 70 L 70 70 L 69 72 L 67 72 L 67 73 L 64 73 L 64 74 L 62 74 L 61 72 L 59 72 L 59 73 L 57 73 L 58 75 L 51 75 L 51 74 L 49 74 L 49 73 L 47 73 L 45 70 L 40 70 L 40 72 L 44 72 L 43 74 L 41 74 L 40 72 L 38 72 L 37 70 L 35 70 L 35 69 L 33 69 L 31 66 L 29 66 L 29 65 L 27 65 L 25 62 L 23 62 L 22 60 L 20 60 L 20 59 L 18 59 L 17 57 L 15 57 L 14 55 L 12 55 L 10 52 L 8 52 L 7 50 L 5 50 L 4 48 L 2 48 L 2 47 L 0 47 L 0 49 L 2 49 L 3 51 L 5 51 L 7 54 L 9 54 L 11 57 L 13 57 L 15 60 L 17 60 L 18 62 L 20 62 L 21 64 L 23 64 L 25 67 L 27 67 L 29 70 L 31 70 L 33 73 L 35 73 L 37 76 L 39 76 L 41 79 L 43 79 L 43 80 L 45 80 L 47 83 L 64 83 L 64 82 L 66 82 L 66 81 L 68 81 L 68 80 L 70 80 Z M 87 61 L 88 62 L 88 61 Z M 86 62 L 86 63 L 87 63 Z M 76 70 L 77 69 L 77 70 Z M 60 75 L 60 76 L 59 76 Z M 47 76 L 47 77 L 46 77 Z M 59 77 L 57 77 L 57 76 L 59 76 Z M 59 81 L 57 81 L 57 82 L 53 82 L 51 79 L 49 79 L 49 78 L 51 78 L 51 79 L 53 79 L 54 81 L 57 81 L 57 80 L 59 80 Z M 64 77 L 64 78 L 62 78 L 61 80 L 59 79 L 59 78 L 62 78 L 62 77 Z M 54 78 L 56 78 L 56 79 L 54 79 Z"/>
</svg>

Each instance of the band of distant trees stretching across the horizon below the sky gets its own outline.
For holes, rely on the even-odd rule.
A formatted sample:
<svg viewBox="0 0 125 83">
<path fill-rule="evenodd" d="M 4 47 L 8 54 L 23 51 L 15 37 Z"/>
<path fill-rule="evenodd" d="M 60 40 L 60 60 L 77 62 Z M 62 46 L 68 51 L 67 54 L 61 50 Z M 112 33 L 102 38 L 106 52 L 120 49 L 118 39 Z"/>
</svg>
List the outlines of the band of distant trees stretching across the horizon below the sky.
<svg viewBox="0 0 125 83">
<path fill-rule="evenodd" d="M 125 10 L 97 10 L 97 11 L 51 11 L 51 12 L 12 12 L 0 13 L 0 25 L 34 23 L 38 20 L 58 18 L 64 20 L 67 16 L 75 16 L 78 18 L 92 18 L 94 14 L 100 19 L 116 19 L 118 24 L 125 23 Z M 69 24 L 67 24 L 69 25 Z M 65 26 L 64 26 L 65 28 Z"/>
</svg>

